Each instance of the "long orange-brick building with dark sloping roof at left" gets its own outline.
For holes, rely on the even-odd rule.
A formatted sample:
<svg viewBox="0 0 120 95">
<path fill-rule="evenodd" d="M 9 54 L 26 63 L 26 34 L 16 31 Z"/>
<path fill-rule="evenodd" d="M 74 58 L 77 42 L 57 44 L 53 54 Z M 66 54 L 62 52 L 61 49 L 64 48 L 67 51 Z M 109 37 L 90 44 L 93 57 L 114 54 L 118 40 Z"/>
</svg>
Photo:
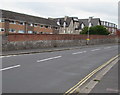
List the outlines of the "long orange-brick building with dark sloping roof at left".
<svg viewBox="0 0 120 95">
<path fill-rule="evenodd" d="M 0 10 L 0 34 L 58 34 L 59 26 L 54 20 Z"/>
</svg>

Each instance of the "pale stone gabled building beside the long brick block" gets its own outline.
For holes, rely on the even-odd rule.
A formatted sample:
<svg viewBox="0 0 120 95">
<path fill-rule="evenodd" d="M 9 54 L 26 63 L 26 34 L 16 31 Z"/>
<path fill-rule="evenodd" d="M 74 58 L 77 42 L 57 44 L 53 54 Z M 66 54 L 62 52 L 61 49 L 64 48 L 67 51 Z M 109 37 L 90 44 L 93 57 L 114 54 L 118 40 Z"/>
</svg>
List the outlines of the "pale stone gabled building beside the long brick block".
<svg viewBox="0 0 120 95">
<path fill-rule="evenodd" d="M 80 34 L 79 20 L 77 17 L 55 18 L 57 25 L 60 26 L 59 34 Z"/>
</svg>

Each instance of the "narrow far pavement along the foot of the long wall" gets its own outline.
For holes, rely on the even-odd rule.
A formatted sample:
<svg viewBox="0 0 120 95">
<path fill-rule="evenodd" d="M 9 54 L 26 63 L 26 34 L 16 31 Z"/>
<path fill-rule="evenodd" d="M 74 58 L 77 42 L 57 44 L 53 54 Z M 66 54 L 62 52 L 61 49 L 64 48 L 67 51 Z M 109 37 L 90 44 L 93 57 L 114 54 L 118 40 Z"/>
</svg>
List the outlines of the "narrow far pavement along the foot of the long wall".
<svg viewBox="0 0 120 95">
<path fill-rule="evenodd" d="M 112 44 L 102 44 L 104 46 L 112 45 Z M 117 44 L 115 44 L 117 45 Z M 42 48 L 42 49 L 25 49 L 25 50 L 13 50 L 13 51 L 3 51 L 0 53 L 0 56 L 8 56 L 8 55 L 21 55 L 21 54 L 32 54 L 32 53 L 43 53 L 43 52 L 55 52 L 55 51 L 64 51 L 64 50 L 72 50 L 72 49 L 82 49 L 82 48 L 90 48 L 99 45 L 85 45 L 85 46 L 71 46 L 71 47 L 55 47 L 55 48 Z"/>
</svg>

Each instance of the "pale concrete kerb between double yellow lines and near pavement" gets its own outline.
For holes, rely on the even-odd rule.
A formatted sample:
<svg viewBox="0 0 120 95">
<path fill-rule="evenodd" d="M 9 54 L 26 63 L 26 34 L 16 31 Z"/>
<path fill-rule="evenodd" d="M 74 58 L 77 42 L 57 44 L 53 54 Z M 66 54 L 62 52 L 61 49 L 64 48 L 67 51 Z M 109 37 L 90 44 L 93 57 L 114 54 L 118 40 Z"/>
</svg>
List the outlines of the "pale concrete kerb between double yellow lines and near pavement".
<svg viewBox="0 0 120 95">
<path fill-rule="evenodd" d="M 92 89 L 101 81 L 101 79 L 111 70 L 111 68 L 118 64 L 119 56 L 110 62 L 106 67 L 104 67 L 102 70 L 100 70 L 98 73 L 96 73 L 93 77 L 91 77 L 88 82 L 86 82 L 83 86 L 77 89 L 77 92 L 79 93 L 90 93 Z"/>
</svg>

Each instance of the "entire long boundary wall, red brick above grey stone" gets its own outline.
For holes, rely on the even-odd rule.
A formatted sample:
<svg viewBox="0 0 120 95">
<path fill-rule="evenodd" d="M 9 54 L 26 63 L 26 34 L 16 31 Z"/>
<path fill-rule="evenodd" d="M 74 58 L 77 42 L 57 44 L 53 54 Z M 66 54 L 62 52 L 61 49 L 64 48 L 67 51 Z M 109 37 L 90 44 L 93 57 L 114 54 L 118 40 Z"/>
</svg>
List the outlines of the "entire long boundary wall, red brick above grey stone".
<svg viewBox="0 0 120 95">
<path fill-rule="evenodd" d="M 10 34 L 2 36 L 2 50 L 25 50 L 53 47 L 83 46 L 87 44 L 87 35 L 71 34 Z M 118 36 L 90 35 L 89 45 L 118 43 Z"/>
</svg>

